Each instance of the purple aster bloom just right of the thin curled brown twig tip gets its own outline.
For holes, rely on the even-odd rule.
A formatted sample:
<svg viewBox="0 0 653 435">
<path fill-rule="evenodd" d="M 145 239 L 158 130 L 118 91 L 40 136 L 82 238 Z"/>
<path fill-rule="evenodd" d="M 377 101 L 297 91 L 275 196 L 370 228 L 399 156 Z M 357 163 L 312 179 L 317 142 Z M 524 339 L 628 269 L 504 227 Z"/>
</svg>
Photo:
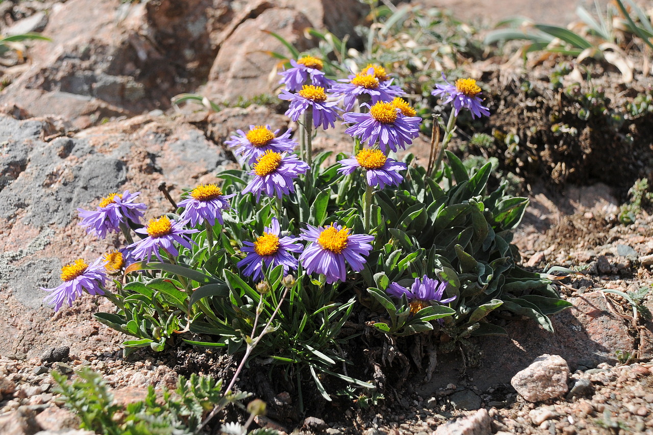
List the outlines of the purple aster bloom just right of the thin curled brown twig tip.
<svg viewBox="0 0 653 435">
<path fill-rule="evenodd" d="M 193 189 L 186 199 L 178 206 L 185 207 L 182 212 L 182 220 L 189 222 L 193 227 L 198 223 L 207 221 L 215 225 L 215 220 L 222 225 L 222 210 L 229 208 L 227 199 L 236 195 L 223 195 L 222 190 L 215 184 L 202 184 Z"/>
</svg>

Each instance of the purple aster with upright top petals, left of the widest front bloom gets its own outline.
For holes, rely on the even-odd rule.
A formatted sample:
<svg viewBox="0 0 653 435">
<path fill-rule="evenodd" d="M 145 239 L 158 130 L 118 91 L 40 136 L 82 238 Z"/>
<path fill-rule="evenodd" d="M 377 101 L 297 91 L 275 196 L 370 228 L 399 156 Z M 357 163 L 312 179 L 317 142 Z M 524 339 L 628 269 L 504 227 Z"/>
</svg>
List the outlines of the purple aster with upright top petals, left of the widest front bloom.
<svg viewBox="0 0 653 435">
<path fill-rule="evenodd" d="M 281 228 L 276 217 L 272 217 L 272 225 L 265 227 L 263 236 L 255 242 L 243 242 L 242 251 L 247 256 L 238 262 L 238 267 L 245 267 L 243 273 L 251 276 L 254 280 L 263 279 L 263 263 L 266 267 L 283 265 L 283 275 L 288 274 L 289 269 L 296 270 L 299 261 L 293 252 L 301 252 L 304 246 L 296 243 L 299 238 L 293 236 L 279 237 Z"/>
</svg>

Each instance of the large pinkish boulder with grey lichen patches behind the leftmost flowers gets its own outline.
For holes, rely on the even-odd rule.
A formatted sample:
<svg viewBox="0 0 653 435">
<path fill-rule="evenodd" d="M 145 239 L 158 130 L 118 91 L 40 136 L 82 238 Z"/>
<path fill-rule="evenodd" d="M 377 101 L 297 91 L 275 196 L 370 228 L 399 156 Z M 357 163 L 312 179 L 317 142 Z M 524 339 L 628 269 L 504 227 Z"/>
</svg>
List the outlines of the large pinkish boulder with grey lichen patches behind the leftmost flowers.
<svg viewBox="0 0 653 435">
<path fill-rule="evenodd" d="M 0 137 L 7 138 L 0 144 L 0 169 L 7 175 L 0 183 L 2 355 L 30 358 L 63 346 L 78 353 L 102 340 L 125 340 L 93 319 L 93 312 L 112 309 L 104 298 L 85 294 L 59 314 L 42 307 L 40 287 L 59 285 L 62 265 L 92 261 L 124 243 L 115 233 L 105 240 L 87 234 L 77 225 L 76 208 L 88 210 L 108 193 L 131 189 L 149 207 L 146 220 L 161 216 L 172 211 L 161 182 L 178 199 L 182 188 L 215 182 L 214 173 L 227 162 L 219 146 L 182 118 L 136 116 L 46 142 L 42 135 L 49 129 L 45 120 L 0 115 Z"/>
</svg>

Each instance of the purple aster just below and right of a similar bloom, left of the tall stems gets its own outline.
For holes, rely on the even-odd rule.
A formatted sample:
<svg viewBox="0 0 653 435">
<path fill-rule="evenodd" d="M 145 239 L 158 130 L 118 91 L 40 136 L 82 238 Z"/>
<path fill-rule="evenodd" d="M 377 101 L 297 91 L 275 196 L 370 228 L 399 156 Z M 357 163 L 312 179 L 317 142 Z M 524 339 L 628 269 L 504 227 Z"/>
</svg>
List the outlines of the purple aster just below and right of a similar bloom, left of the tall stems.
<svg viewBox="0 0 653 435">
<path fill-rule="evenodd" d="M 261 199 L 261 192 L 268 197 L 281 198 L 295 191 L 293 180 L 299 174 L 306 174 L 311 169 L 308 163 L 297 158 L 296 155 L 281 155 L 274 151 L 268 151 L 259 157 L 254 169 L 250 172 L 254 179 L 247 184 L 242 193 L 255 193 L 256 200 Z"/>
</svg>

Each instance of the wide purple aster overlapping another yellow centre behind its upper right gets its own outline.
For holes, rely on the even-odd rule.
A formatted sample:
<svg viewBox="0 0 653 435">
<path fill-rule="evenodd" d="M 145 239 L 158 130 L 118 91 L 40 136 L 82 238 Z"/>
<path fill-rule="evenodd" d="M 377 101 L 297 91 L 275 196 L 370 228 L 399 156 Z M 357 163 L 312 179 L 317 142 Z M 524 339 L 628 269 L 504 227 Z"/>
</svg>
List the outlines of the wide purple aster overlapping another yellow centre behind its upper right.
<svg viewBox="0 0 653 435">
<path fill-rule="evenodd" d="M 345 113 L 343 119 L 355 123 L 345 133 L 360 137 L 362 142 L 368 141 L 370 146 L 378 141 L 383 153 L 388 153 L 388 148 L 396 152 L 397 148 L 411 144 L 419 136 L 422 121 L 419 116 L 405 116 L 402 108 L 393 103 L 383 102 L 371 106 L 368 113 Z"/>
</svg>

